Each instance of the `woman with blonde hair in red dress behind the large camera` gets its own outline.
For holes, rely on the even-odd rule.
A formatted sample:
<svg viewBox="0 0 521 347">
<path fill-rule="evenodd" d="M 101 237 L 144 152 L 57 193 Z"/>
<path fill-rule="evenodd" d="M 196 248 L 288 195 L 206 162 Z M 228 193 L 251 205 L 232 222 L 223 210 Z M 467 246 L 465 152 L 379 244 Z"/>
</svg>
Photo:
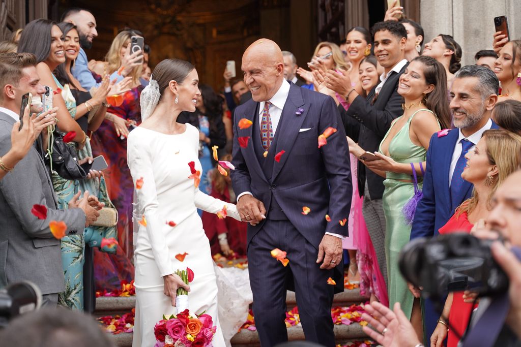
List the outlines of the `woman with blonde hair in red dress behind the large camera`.
<svg viewBox="0 0 521 347">
<path fill-rule="evenodd" d="M 440 234 L 470 233 L 474 224 L 487 219 L 495 189 L 519 167 L 520 151 L 521 136 L 517 134 L 505 130 L 487 130 L 483 133 L 476 147 L 465 155 L 467 166 L 461 175 L 474 185 L 472 198 L 456 209 L 451 219 L 440 228 Z M 465 302 L 465 299 L 464 292 L 449 294 L 430 338 L 431 347 L 443 346 L 447 335 L 447 347 L 456 347 L 467 328 L 470 313 L 475 309 L 473 299 L 467 300 L 470 302 Z M 448 328 L 449 322 L 452 329 Z"/>
</svg>

